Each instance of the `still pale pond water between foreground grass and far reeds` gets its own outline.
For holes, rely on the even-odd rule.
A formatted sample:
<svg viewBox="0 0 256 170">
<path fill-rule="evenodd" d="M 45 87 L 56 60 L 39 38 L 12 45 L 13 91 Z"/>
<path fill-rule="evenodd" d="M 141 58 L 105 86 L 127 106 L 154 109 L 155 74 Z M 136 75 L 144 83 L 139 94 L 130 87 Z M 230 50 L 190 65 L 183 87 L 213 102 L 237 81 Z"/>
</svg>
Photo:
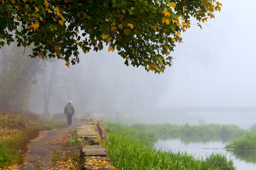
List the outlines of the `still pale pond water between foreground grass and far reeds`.
<svg viewBox="0 0 256 170">
<path fill-rule="evenodd" d="M 234 152 L 232 150 L 226 150 L 225 143 L 222 142 L 206 142 L 206 143 L 184 143 L 180 139 L 172 139 L 162 141 L 159 140 L 155 144 L 157 150 L 171 150 L 172 152 L 185 152 L 191 154 L 194 157 L 203 157 L 211 155 L 211 153 L 222 153 L 227 155 L 233 160 L 236 170 L 253 170 L 256 169 L 256 152 Z"/>
</svg>

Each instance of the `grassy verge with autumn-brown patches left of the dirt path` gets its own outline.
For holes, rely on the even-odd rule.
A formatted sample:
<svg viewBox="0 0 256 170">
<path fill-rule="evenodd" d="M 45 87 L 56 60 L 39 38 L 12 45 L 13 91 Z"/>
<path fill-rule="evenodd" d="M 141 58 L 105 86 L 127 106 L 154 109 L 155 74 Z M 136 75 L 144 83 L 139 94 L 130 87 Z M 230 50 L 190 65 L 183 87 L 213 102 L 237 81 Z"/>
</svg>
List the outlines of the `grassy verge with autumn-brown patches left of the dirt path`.
<svg viewBox="0 0 256 170">
<path fill-rule="evenodd" d="M 37 114 L 0 113 L 0 168 L 21 163 L 27 144 L 42 130 L 66 126 Z"/>
</svg>

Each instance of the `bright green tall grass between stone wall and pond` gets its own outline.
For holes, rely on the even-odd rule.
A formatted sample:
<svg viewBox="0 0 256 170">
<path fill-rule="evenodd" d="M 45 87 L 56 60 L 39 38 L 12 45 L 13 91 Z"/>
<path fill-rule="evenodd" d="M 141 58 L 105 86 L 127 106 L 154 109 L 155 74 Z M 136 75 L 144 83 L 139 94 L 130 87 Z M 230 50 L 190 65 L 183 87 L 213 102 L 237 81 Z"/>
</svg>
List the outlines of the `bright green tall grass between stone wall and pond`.
<svg viewBox="0 0 256 170">
<path fill-rule="evenodd" d="M 186 152 L 154 149 L 157 138 L 164 133 L 156 126 L 160 125 L 145 127 L 142 124 L 129 126 L 109 123 L 109 138 L 105 147 L 114 166 L 120 170 L 234 170 L 233 162 L 218 153 L 203 160 Z"/>
</svg>

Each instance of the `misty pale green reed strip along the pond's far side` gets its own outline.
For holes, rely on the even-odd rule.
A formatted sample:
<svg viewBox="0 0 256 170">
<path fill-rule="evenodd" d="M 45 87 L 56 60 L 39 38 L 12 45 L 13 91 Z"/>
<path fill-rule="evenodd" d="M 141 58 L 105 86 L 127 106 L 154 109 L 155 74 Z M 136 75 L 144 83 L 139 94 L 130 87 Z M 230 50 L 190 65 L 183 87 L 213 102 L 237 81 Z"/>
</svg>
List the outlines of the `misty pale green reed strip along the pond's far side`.
<svg viewBox="0 0 256 170">
<path fill-rule="evenodd" d="M 157 139 L 180 139 L 183 143 L 231 141 L 247 132 L 236 125 L 202 124 L 133 124 L 130 127 L 143 131 L 155 132 Z"/>
</svg>

